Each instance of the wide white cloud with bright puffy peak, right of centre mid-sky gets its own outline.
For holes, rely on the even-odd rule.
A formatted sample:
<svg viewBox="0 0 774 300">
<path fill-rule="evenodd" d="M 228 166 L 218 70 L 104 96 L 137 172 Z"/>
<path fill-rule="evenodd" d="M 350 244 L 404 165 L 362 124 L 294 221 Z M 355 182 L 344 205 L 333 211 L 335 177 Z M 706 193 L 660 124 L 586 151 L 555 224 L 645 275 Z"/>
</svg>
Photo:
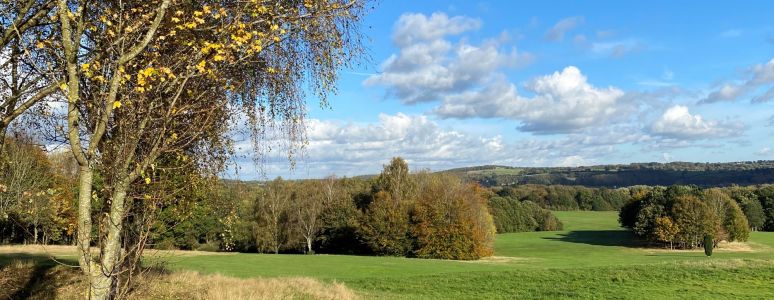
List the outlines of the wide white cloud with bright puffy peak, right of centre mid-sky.
<svg viewBox="0 0 774 300">
<path fill-rule="evenodd" d="M 500 78 L 483 89 L 447 97 L 434 112 L 445 118 L 514 119 L 524 131 L 567 133 L 609 125 L 634 110 L 623 91 L 591 85 L 574 66 L 535 78 L 525 88 L 534 96 L 519 95 L 515 85 Z"/>
</svg>

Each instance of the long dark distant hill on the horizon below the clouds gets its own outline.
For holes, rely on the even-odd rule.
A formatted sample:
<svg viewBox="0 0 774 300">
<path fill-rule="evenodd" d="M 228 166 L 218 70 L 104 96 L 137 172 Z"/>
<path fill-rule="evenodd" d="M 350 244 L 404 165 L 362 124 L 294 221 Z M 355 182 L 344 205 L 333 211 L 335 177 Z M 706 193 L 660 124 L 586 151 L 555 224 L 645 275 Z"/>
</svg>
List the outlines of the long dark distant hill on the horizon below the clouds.
<svg viewBox="0 0 774 300">
<path fill-rule="evenodd" d="M 632 163 L 588 167 L 476 166 L 446 170 L 484 186 L 561 184 L 590 187 L 694 184 L 704 187 L 774 183 L 774 161 Z"/>
</svg>

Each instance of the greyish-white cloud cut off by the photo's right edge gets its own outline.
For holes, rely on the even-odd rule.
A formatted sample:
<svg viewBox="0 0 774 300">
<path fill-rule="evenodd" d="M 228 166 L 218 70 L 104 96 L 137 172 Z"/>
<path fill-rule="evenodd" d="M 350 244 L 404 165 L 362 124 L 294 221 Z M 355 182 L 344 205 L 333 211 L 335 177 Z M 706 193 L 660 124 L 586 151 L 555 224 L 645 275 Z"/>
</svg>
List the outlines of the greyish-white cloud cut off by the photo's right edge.
<svg viewBox="0 0 774 300">
<path fill-rule="evenodd" d="M 766 91 L 754 95 L 752 102 L 767 102 L 774 99 L 774 58 L 765 64 L 758 64 L 749 68 L 744 74 L 746 78 L 736 80 L 736 82 L 721 84 L 701 99 L 699 103 L 736 101 L 761 89 Z"/>
</svg>

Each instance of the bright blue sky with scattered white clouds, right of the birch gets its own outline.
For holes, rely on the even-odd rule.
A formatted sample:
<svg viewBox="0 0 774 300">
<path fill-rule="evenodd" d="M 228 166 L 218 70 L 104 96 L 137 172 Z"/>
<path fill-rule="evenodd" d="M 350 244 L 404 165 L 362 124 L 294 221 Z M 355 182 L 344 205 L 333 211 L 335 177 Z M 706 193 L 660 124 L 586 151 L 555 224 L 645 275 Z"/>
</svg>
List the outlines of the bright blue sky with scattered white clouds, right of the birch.
<svg viewBox="0 0 774 300">
<path fill-rule="evenodd" d="M 774 1 L 381 1 L 307 144 L 226 177 L 774 159 Z M 241 148 L 240 148 L 241 147 Z M 238 148 L 249 148 L 238 145 Z"/>
</svg>

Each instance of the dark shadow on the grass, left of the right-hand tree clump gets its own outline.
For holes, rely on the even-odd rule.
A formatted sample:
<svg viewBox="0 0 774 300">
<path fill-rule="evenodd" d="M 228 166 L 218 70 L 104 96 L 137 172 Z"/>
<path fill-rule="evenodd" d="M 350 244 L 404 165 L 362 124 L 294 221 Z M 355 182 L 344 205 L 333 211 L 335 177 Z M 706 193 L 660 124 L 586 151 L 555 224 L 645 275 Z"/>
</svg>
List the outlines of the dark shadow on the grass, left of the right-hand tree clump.
<svg viewBox="0 0 774 300">
<path fill-rule="evenodd" d="M 645 246 L 633 233 L 626 230 L 576 230 L 560 234 L 559 237 L 544 237 L 543 239 L 595 246 Z"/>
</svg>

